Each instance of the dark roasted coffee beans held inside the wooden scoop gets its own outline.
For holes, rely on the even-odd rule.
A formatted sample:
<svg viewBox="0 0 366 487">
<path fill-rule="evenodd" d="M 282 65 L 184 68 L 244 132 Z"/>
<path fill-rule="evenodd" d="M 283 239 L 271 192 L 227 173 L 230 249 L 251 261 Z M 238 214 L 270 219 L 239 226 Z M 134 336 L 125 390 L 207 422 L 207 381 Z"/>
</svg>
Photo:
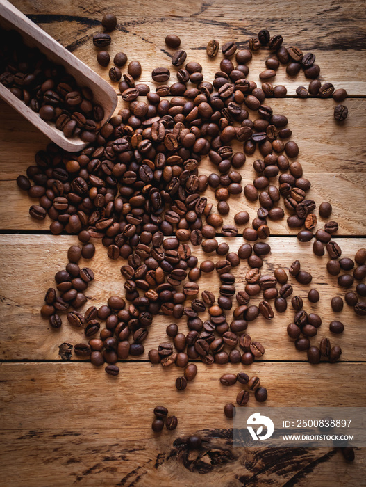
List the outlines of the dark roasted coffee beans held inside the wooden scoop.
<svg viewBox="0 0 366 487">
<path fill-rule="evenodd" d="M 0 41 L 0 83 L 66 137 L 94 143 L 104 109 L 93 102 L 92 90 L 79 86 L 38 48 L 24 44 L 16 31 L 0 29 Z M 34 217 L 40 219 L 36 210 Z"/>
</svg>

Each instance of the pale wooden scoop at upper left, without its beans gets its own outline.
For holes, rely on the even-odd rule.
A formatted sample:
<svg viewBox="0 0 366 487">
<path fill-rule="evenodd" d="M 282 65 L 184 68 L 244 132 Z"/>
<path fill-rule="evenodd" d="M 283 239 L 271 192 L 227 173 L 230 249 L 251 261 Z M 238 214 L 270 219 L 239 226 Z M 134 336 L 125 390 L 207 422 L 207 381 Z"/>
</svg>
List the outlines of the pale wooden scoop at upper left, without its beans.
<svg viewBox="0 0 366 487">
<path fill-rule="evenodd" d="M 0 26 L 6 30 L 14 29 L 18 31 L 22 34 L 26 45 L 38 47 L 49 60 L 65 66 L 67 73 L 72 74 L 79 86 L 87 86 L 92 90 L 94 94 L 93 102 L 103 106 L 104 118 L 101 121 L 101 125 L 110 119 L 117 106 L 117 94 L 107 81 L 104 81 L 90 67 L 76 58 L 74 54 L 71 54 L 59 42 L 51 38 L 51 35 L 42 31 L 40 27 L 31 22 L 31 20 L 7 0 L 0 1 Z M 38 113 L 35 113 L 29 106 L 26 106 L 22 100 L 13 95 L 1 83 L 0 97 L 13 106 L 16 111 L 24 115 L 26 120 L 33 123 L 44 135 L 51 138 L 51 141 L 67 150 L 67 152 L 78 152 L 88 145 L 81 138 L 65 137 L 63 131 L 56 129 L 53 123 L 42 120 Z"/>
</svg>

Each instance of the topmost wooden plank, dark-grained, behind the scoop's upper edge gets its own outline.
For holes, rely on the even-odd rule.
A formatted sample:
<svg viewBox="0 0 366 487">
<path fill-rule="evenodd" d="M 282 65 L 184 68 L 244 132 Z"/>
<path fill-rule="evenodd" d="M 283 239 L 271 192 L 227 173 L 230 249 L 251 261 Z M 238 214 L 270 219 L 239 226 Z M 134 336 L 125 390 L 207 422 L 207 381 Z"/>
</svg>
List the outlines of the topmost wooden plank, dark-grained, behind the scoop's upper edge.
<svg viewBox="0 0 366 487">
<path fill-rule="evenodd" d="M 349 95 L 366 95 L 362 70 L 366 58 L 363 51 L 365 14 L 356 2 L 336 1 L 329 8 L 327 2 L 316 0 L 301 6 L 274 1 L 270 6 L 253 4 L 250 15 L 246 15 L 247 3 L 243 0 L 235 2 L 235 8 L 230 2 L 219 0 L 190 0 L 178 6 L 163 1 L 142 1 L 138 3 L 138 9 L 132 0 L 123 4 L 109 0 L 103 5 L 103 13 L 99 5 L 88 4 L 83 8 L 83 1 L 75 5 L 60 2 L 56 12 L 49 0 L 42 1 L 42 10 L 30 1 L 16 0 L 13 3 L 105 79 L 108 79 L 108 70 L 97 64 L 92 35 L 101 31 L 99 22 L 103 13 L 113 12 L 117 15 L 118 30 L 112 33 L 110 54 L 114 56 L 122 49 L 130 60 L 142 61 L 142 81 L 151 80 L 153 67 L 172 67 L 170 56 L 173 51 L 164 42 L 169 32 L 181 37 L 181 48 L 187 51 L 188 60 L 201 63 L 205 76 L 212 79 L 222 54 L 220 51 L 215 60 L 208 59 L 208 40 L 215 38 L 221 45 L 235 40 L 241 48 L 247 48 L 249 39 L 267 27 L 272 34 L 281 33 L 285 45 L 295 44 L 304 51 L 313 51 L 321 67 L 322 79 L 334 83 L 337 88 L 347 89 Z M 258 81 L 268 54 L 263 49 L 251 62 L 250 79 L 253 81 Z M 305 82 L 308 80 L 302 74 L 296 79 L 287 77 L 283 67 L 276 77 L 276 83 L 284 83 L 290 95 Z M 117 83 L 115 86 L 117 88 Z"/>
</svg>

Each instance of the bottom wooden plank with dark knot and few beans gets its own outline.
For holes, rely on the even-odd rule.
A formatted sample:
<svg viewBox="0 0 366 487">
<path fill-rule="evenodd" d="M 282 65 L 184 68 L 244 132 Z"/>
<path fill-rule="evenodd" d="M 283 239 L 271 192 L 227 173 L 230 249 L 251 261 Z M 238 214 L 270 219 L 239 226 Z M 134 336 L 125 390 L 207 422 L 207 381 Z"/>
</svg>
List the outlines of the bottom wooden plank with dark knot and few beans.
<svg viewBox="0 0 366 487">
<path fill-rule="evenodd" d="M 363 483 L 365 449 L 357 449 L 350 464 L 336 449 L 233 448 L 223 406 L 240 385 L 224 388 L 219 376 L 238 370 L 199 364 L 195 380 L 178 392 L 174 368 L 126 363 L 118 377 L 110 377 L 87 364 L 2 364 L 4 485 L 340 487 L 346 478 L 349 485 Z M 317 406 L 365 404 L 365 364 L 338 364 L 331 375 L 326 365 L 316 370 L 315 387 L 309 364 L 251 365 L 250 374 L 260 376 L 269 397 L 265 404 L 251 397 L 248 405 L 297 406 L 305 398 Z M 152 433 L 157 404 L 178 417 L 176 430 Z M 205 474 L 198 471 L 198 452 L 176 446 L 192 434 L 204 440 L 199 454 L 208 466 Z"/>
</svg>

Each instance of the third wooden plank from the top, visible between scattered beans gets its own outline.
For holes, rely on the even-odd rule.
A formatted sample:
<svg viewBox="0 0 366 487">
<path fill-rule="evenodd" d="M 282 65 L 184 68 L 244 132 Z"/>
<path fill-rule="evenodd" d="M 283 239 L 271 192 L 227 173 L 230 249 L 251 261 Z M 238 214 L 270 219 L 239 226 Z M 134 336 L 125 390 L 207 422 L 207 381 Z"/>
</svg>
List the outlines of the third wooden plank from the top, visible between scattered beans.
<svg viewBox="0 0 366 487">
<path fill-rule="evenodd" d="M 218 240 L 225 241 L 224 237 L 218 237 Z M 231 251 L 237 250 L 243 243 L 241 237 L 226 239 L 226 241 Z M 313 282 L 308 286 L 299 285 L 293 278 L 288 281 L 294 287 L 293 296 L 299 295 L 303 298 L 304 309 L 322 317 L 323 324 L 317 336 L 311 339 L 312 344 L 319 345 L 323 337 L 329 337 L 333 345 L 338 344 L 342 347 L 341 360 L 365 360 L 366 338 L 365 334 L 359 332 L 365 318 L 356 316 L 347 304 L 344 304 L 344 309 L 340 313 L 331 310 L 331 298 L 344 297 L 344 293 L 350 288 L 339 288 L 337 278 L 328 275 L 327 257 L 315 257 L 311 244 L 301 244 L 297 239 L 290 237 L 269 237 L 267 241 L 272 247 L 272 253 L 264 260 L 263 276 L 273 273 L 277 266 L 283 266 L 288 270 L 295 259 L 300 260 L 303 270 L 313 274 Z M 338 243 L 342 248 L 342 257 L 353 258 L 356 250 L 365 246 L 364 239 L 338 239 Z M 0 275 L 0 297 L 3 302 L 0 308 L 1 359 L 59 360 L 60 344 L 86 342 L 82 330 L 69 326 L 65 315 L 63 326 L 58 330 L 52 329 L 48 321 L 40 317 L 44 293 L 48 287 L 54 286 L 53 276 L 56 271 L 65 269 L 67 248 L 72 244 L 78 244 L 76 237 L 14 234 L 0 237 L 0 255 L 3 262 Z M 90 305 L 99 307 L 106 304 L 109 296 L 113 294 L 124 296 L 124 279 L 119 269 L 126 261 L 108 259 L 106 248 L 103 248 L 100 242 L 96 245 L 97 252 L 94 258 L 91 261 L 81 260 L 81 266 L 90 266 L 96 276 L 85 293 L 89 301 L 82 310 L 86 310 Z M 201 248 L 193 249 L 199 263 L 208 258 L 214 262 L 222 258 L 216 254 L 204 254 Z M 246 261 L 233 268 L 237 291 L 244 289 L 246 284 L 244 277 L 248 269 Z M 198 283 L 200 292 L 211 289 L 216 296 L 219 295 L 219 280 L 215 271 L 203 275 Z M 311 304 L 308 301 L 308 290 L 311 287 L 319 289 L 321 298 L 318 303 Z M 251 299 L 251 303 L 258 305 L 262 299 L 262 295 L 255 296 Z M 234 307 L 235 303 L 234 300 Z M 266 321 L 260 315 L 256 321 L 249 323 L 247 333 L 253 340 L 258 340 L 265 346 L 263 360 L 306 360 L 306 353 L 295 350 L 293 340 L 290 340 L 286 333 L 286 327 L 293 320 L 293 316 L 294 310 L 288 299 L 288 310 L 285 313 L 276 313 L 272 321 Z M 208 313 L 200 314 L 200 317 L 204 321 Z M 334 319 L 344 323 L 345 330 L 342 335 L 330 333 L 328 325 Z M 161 342 L 172 340 L 168 339 L 165 333 L 166 326 L 172 321 L 174 321 L 172 317 L 154 317 L 153 324 L 149 328 L 149 337 L 144 342 L 144 356 L 138 357 L 139 360 L 141 358 L 147 360 L 147 352 L 150 349 L 156 348 Z M 228 323 L 232 321 L 232 311 L 227 312 L 227 321 Z M 176 323 L 181 332 L 188 332 L 186 318 L 176 320 Z"/>
</svg>

